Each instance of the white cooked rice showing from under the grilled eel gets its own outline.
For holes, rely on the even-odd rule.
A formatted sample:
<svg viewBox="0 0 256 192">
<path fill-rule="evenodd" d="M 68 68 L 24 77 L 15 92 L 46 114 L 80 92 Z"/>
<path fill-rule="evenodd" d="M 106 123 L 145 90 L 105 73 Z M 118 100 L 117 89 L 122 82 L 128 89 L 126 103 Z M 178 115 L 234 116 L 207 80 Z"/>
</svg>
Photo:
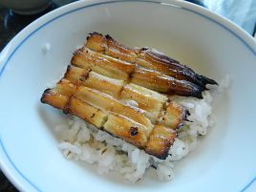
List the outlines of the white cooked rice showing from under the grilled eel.
<svg viewBox="0 0 256 192">
<path fill-rule="evenodd" d="M 195 149 L 198 138 L 205 135 L 214 124 L 212 103 L 216 97 L 227 88 L 229 78 L 226 76 L 220 86 L 203 92 L 203 99 L 170 96 L 170 98 L 185 106 L 190 116 L 179 130 L 166 160 L 159 160 L 146 154 L 122 139 L 117 139 L 104 131 L 85 122 L 78 117 L 69 117 L 68 123 L 58 125 L 55 131 L 60 137 L 58 148 L 69 160 L 81 160 L 96 164 L 99 174 L 116 171 L 127 181 L 139 181 L 148 168 L 155 167 L 160 181 L 169 181 L 174 177 L 174 161 L 181 160 Z M 138 103 L 127 100 L 131 106 Z"/>
</svg>

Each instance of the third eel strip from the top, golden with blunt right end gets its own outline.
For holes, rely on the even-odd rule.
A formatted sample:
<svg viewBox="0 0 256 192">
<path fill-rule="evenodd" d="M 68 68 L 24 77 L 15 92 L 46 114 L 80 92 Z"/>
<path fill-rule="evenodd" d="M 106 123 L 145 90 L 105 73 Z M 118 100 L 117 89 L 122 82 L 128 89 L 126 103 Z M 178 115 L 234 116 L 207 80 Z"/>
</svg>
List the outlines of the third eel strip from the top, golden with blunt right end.
<svg viewBox="0 0 256 192">
<path fill-rule="evenodd" d="M 181 127 L 183 119 L 187 115 L 187 110 L 184 107 L 170 101 L 167 96 L 133 83 L 126 83 L 123 80 L 99 75 L 96 72 L 72 65 L 68 66 L 64 77 L 77 85 L 97 90 L 99 93 L 112 96 L 120 101 L 135 100 L 145 117 L 148 117 L 153 123 L 162 124 L 172 129 Z"/>
</svg>

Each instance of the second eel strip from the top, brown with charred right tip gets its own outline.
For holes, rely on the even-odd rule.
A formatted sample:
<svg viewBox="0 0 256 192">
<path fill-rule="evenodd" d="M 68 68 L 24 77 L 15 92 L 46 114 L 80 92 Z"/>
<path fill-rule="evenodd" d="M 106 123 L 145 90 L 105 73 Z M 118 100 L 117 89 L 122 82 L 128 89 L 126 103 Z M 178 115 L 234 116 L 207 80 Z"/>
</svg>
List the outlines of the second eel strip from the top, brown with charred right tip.
<svg viewBox="0 0 256 192">
<path fill-rule="evenodd" d="M 202 97 L 203 88 L 196 84 L 142 68 L 102 53 L 96 53 L 86 47 L 75 52 L 72 64 L 84 69 L 91 69 L 101 75 L 126 80 L 157 92 Z"/>
</svg>

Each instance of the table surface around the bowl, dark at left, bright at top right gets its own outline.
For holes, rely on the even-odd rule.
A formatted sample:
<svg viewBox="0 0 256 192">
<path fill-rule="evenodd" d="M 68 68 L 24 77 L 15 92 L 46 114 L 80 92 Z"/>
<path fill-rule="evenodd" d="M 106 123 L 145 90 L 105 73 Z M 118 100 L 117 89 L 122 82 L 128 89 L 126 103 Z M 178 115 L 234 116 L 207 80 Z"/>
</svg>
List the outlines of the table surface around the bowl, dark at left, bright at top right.
<svg viewBox="0 0 256 192">
<path fill-rule="evenodd" d="M 46 10 L 34 15 L 19 15 L 0 5 L 0 52 L 11 38 L 29 25 L 33 20 L 74 0 L 55 0 Z M 256 28 L 256 0 L 187 0 L 215 11 L 236 23 L 246 32 L 253 35 Z M 0 191 L 18 191 L 0 170 Z"/>
</svg>

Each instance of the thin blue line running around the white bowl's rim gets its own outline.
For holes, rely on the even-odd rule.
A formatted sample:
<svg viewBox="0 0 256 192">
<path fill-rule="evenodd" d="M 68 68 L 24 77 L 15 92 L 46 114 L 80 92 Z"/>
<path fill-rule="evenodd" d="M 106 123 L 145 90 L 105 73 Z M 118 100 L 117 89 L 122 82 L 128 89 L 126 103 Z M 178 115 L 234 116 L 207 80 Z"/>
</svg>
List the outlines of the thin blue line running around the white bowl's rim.
<svg viewBox="0 0 256 192">
<path fill-rule="evenodd" d="M 53 17 L 51 20 L 45 22 L 44 24 L 42 24 L 41 26 L 39 26 L 37 29 L 33 30 L 32 32 L 29 33 L 29 35 L 27 35 L 19 44 L 18 46 L 11 52 L 11 54 L 9 55 L 8 59 L 5 61 L 5 63 L 3 64 L 1 70 L 0 70 L 0 77 L 1 75 L 4 73 L 5 71 L 5 68 L 6 66 L 8 65 L 9 61 L 11 60 L 11 57 L 13 56 L 14 53 L 16 53 L 16 51 L 22 46 L 23 43 L 25 43 L 31 36 L 32 34 L 34 34 L 35 32 L 41 30 L 42 28 L 44 28 L 45 26 L 47 26 L 48 24 L 52 23 L 54 20 L 64 16 L 64 15 L 67 15 L 67 14 L 70 14 L 72 12 L 75 12 L 75 11 L 80 11 L 80 10 L 83 10 L 83 9 L 87 9 L 87 8 L 91 8 L 91 7 L 96 7 L 96 6 L 100 6 L 100 5 L 106 5 L 106 4 L 113 4 L 113 3 L 122 3 L 122 2 L 141 2 L 141 3 L 154 3 L 154 4 L 161 4 L 161 5 L 168 5 L 168 6 L 172 6 L 172 7 L 177 7 L 179 9 L 182 9 L 184 11 L 190 11 L 190 12 L 193 12 L 195 14 L 198 14 L 200 16 L 202 16 L 203 18 L 215 23 L 216 25 L 220 26 L 221 28 L 223 28 L 224 30 L 226 30 L 227 32 L 230 32 L 232 35 L 234 35 L 236 38 L 238 38 L 244 45 L 245 47 L 251 52 L 253 53 L 254 55 L 256 55 L 256 51 L 254 51 L 254 49 L 252 47 L 250 47 L 246 42 L 245 40 L 239 35 L 237 34 L 236 32 L 233 32 L 232 30 L 230 30 L 228 27 L 224 26 L 224 24 L 216 21 L 215 19 L 211 18 L 210 16 L 207 16 L 199 11 L 193 11 L 193 10 L 190 10 L 188 8 L 183 8 L 183 7 L 180 7 L 180 6 L 176 6 L 175 4 L 172 4 L 172 3 L 162 3 L 162 2 L 159 2 L 159 1 L 154 1 L 154 0 L 136 0 L 136 1 L 133 1 L 133 0 L 114 0 L 114 1 L 108 1 L 108 2 L 99 2 L 99 3 L 95 3 L 95 4 L 90 4 L 90 5 L 87 5 L 87 6 L 82 6 L 82 7 L 79 7 L 79 8 L 76 8 L 75 10 L 72 10 L 72 11 L 66 11 L 60 15 L 57 15 L 55 17 Z M 75 3 L 74 3 L 75 4 Z M 190 3 L 187 3 L 187 4 L 190 4 Z M 193 5 L 193 4 L 190 4 L 190 5 Z M 69 6 L 69 5 L 68 5 Z M 196 6 L 196 5 L 193 5 L 193 6 Z M 67 6 L 65 6 L 67 7 Z M 196 6 L 197 7 L 197 6 Z M 203 9 L 203 8 L 201 8 Z M 210 12 L 210 11 L 209 11 Z M 212 13 L 212 12 L 211 12 Z M 212 14 L 216 14 L 216 13 L 212 13 Z M 220 16 L 220 15 L 218 15 Z M 222 16 L 221 16 L 222 17 Z M 223 17 L 222 17 L 223 18 Z M 40 18 L 39 18 L 40 19 Z M 224 19 L 224 18 L 223 18 Z M 225 20 L 225 19 L 224 19 Z M 37 21 L 37 20 L 36 20 Z M 36 22 L 35 21 L 35 22 Z M 28 27 L 27 27 L 28 28 Z M 5 50 L 4 50 L 5 51 Z M 4 52 L 3 51 L 3 52 Z M 1 53 L 2 54 L 2 53 Z M 6 150 L 6 147 L 3 143 L 3 140 L 1 139 L 1 136 L 0 136 L 0 147 L 2 148 L 4 154 L 6 155 L 6 158 L 7 160 L 10 161 L 12 167 L 14 168 L 14 170 L 16 170 L 16 172 L 25 180 L 27 181 L 33 189 L 35 189 L 36 191 L 39 191 L 41 192 L 42 190 L 39 189 L 39 187 L 37 187 L 31 180 L 29 180 L 17 167 L 16 165 L 14 164 L 14 162 L 11 160 L 7 150 Z M 7 176 L 10 176 L 8 174 L 8 171 L 7 169 L 4 169 L 4 172 Z M 19 189 L 24 189 L 22 185 L 19 185 L 17 184 L 15 181 L 12 180 L 11 176 L 8 177 L 12 183 Z M 249 181 L 247 184 L 245 184 L 245 186 L 243 187 L 242 190 L 240 190 L 240 192 L 245 192 L 245 190 L 254 182 L 256 181 L 256 176 L 251 180 Z"/>
</svg>

